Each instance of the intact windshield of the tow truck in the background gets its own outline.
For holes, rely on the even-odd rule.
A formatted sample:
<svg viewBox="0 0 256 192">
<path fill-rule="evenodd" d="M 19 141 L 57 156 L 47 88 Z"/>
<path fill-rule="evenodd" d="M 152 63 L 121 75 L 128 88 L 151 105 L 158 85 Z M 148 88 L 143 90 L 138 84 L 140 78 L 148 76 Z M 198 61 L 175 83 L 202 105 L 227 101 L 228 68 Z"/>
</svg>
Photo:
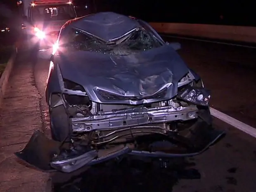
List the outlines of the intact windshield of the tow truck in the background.
<svg viewBox="0 0 256 192">
<path fill-rule="evenodd" d="M 71 5 L 35 6 L 31 8 L 33 21 L 70 20 L 76 17 Z"/>
</svg>

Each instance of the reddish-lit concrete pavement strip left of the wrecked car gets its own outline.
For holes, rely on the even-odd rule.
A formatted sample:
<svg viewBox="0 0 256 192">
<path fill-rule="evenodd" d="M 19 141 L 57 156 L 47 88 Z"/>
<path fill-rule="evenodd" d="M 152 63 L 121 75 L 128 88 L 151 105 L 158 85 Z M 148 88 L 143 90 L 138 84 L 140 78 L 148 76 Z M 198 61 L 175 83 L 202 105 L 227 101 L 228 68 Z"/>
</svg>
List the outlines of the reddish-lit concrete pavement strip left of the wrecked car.
<svg viewBox="0 0 256 192">
<path fill-rule="evenodd" d="M 22 165 L 14 156 L 33 131 L 42 128 L 39 98 L 33 65 L 19 58 L 0 109 L 0 192 L 46 190 L 48 174 Z"/>
</svg>

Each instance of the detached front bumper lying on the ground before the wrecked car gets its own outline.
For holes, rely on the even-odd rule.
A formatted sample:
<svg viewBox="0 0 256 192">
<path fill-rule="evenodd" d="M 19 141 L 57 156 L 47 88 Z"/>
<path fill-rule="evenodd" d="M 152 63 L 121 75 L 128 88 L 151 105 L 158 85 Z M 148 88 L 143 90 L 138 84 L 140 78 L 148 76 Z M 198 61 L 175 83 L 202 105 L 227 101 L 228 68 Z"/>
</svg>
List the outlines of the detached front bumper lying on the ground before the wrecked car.
<svg viewBox="0 0 256 192">
<path fill-rule="evenodd" d="M 26 147 L 20 152 L 16 152 L 15 155 L 42 171 L 70 173 L 83 166 L 92 166 L 119 156 L 141 156 L 156 159 L 195 156 L 204 152 L 225 135 L 223 131 L 213 129 L 204 121 L 198 121 L 191 133 L 189 137 L 168 136 L 170 140 L 174 141 L 172 145 L 166 144 L 164 140 L 154 140 L 150 145 L 158 143 L 158 146 L 153 150 L 138 149 L 134 145 L 128 144 L 120 145 L 107 153 L 102 151 L 105 149 L 80 151 L 76 155 L 61 159 L 56 158 L 61 154 L 60 142 L 50 140 L 43 133 L 36 131 Z"/>
</svg>

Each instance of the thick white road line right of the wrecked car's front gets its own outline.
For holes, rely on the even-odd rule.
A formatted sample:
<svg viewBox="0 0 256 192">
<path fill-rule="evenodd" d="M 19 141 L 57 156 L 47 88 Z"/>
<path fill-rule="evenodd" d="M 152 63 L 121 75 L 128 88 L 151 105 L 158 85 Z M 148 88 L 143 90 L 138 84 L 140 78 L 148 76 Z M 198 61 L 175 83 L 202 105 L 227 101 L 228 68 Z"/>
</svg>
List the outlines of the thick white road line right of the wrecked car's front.
<svg viewBox="0 0 256 192">
<path fill-rule="evenodd" d="M 256 138 L 256 128 L 251 127 L 241 121 L 238 121 L 237 119 L 234 119 L 216 109 L 213 109 L 210 107 L 211 115 L 220 119 L 221 121 L 224 121 L 225 123 L 230 124 L 231 126 L 244 131 L 245 133 L 253 136 Z"/>
</svg>

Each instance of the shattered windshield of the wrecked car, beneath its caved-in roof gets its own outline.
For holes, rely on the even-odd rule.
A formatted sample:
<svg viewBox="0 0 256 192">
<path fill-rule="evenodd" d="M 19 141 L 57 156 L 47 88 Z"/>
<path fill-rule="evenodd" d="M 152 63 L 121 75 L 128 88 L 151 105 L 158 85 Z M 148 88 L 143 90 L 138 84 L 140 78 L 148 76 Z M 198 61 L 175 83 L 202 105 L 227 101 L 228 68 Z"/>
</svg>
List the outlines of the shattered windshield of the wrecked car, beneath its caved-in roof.
<svg viewBox="0 0 256 192">
<path fill-rule="evenodd" d="M 161 46 L 161 43 L 143 28 L 116 41 L 105 42 L 82 31 L 72 29 L 66 36 L 64 47 L 69 51 L 101 52 L 110 55 L 130 55 Z"/>
</svg>

